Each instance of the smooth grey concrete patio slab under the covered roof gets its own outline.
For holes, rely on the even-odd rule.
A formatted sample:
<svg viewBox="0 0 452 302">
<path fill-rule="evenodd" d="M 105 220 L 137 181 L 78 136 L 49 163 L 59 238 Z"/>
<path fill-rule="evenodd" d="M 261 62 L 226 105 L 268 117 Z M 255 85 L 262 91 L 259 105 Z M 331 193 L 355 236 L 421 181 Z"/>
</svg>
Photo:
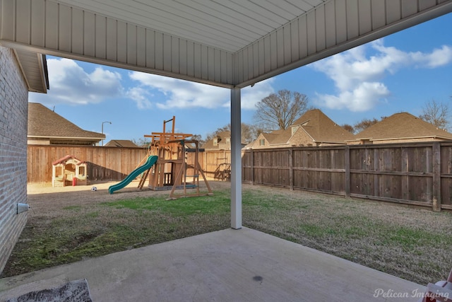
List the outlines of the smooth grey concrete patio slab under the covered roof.
<svg viewBox="0 0 452 302">
<path fill-rule="evenodd" d="M 0 279 L 0 301 L 87 279 L 102 301 L 417 301 L 425 286 L 249 228 Z"/>
</svg>

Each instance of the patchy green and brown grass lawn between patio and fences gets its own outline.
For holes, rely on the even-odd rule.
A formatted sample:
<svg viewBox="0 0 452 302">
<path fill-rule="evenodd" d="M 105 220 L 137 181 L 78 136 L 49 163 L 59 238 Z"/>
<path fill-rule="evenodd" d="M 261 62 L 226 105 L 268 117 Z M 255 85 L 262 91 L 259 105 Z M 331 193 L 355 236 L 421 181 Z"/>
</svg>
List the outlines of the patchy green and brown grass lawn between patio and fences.
<svg viewBox="0 0 452 302">
<path fill-rule="evenodd" d="M 244 185 L 243 224 L 420 284 L 452 268 L 452 215 Z M 61 207 L 29 216 L 1 277 L 230 227 L 230 190 Z"/>
</svg>

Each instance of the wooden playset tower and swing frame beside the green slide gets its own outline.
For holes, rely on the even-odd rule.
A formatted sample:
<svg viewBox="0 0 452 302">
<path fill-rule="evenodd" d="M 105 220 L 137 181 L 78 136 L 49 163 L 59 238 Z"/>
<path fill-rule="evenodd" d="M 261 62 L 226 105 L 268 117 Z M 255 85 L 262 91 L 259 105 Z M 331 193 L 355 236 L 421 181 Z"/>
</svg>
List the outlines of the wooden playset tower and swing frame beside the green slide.
<svg viewBox="0 0 452 302">
<path fill-rule="evenodd" d="M 144 137 L 151 138 L 148 156 L 158 156 L 157 163 L 143 173 L 138 188 L 142 189 L 149 178 L 151 190 L 171 190 L 169 199 L 179 197 L 203 196 L 212 194 L 201 165 L 199 165 L 199 146 L 195 139 L 187 139 L 193 134 L 175 133 L 176 117 L 163 121 L 163 132 L 152 132 Z M 167 122 L 172 122 L 171 132 L 166 132 Z M 142 163 L 140 163 L 141 165 Z M 207 192 L 201 192 L 199 177 L 203 178 Z M 183 190 L 177 194 L 176 190 Z M 187 189 L 194 191 L 188 192 Z"/>
</svg>

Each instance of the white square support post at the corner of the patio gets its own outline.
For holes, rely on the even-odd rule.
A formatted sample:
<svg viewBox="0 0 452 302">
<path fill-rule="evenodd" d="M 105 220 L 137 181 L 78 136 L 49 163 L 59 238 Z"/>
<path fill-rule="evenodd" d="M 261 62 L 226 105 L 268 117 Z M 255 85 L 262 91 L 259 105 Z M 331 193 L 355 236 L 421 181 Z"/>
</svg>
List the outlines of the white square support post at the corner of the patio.
<svg viewBox="0 0 452 302">
<path fill-rule="evenodd" d="M 231 227 L 242 228 L 242 132 L 240 88 L 231 88 Z"/>
</svg>

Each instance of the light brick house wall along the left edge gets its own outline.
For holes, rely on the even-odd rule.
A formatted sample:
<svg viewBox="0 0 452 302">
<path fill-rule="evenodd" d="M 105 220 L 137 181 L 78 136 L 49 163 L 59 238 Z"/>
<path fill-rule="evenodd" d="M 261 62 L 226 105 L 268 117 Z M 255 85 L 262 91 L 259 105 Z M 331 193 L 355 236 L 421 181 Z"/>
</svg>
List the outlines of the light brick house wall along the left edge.
<svg viewBox="0 0 452 302">
<path fill-rule="evenodd" d="M 27 221 L 28 88 L 12 50 L 0 46 L 0 272 Z"/>
</svg>

